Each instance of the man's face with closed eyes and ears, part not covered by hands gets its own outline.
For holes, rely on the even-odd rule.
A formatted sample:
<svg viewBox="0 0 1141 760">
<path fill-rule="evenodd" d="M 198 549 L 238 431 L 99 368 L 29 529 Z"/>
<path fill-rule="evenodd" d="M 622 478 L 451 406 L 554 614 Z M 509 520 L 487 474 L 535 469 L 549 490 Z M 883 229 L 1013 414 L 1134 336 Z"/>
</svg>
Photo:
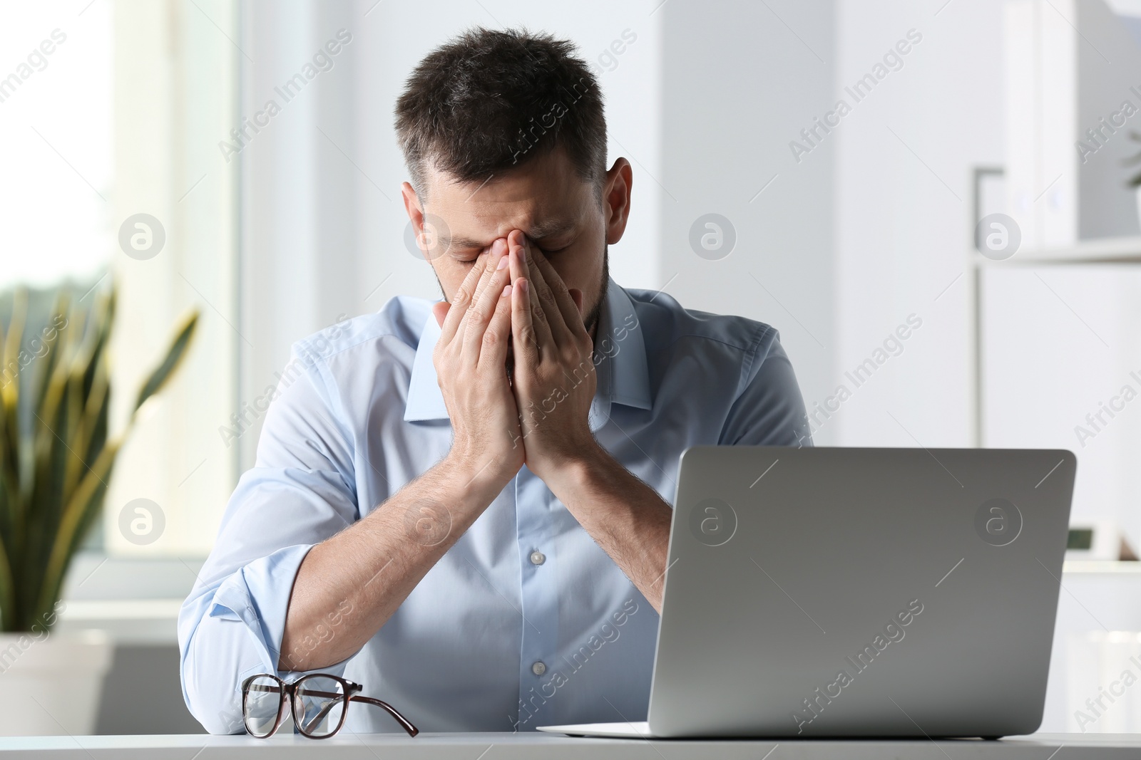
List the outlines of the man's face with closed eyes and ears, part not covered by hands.
<svg viewBox="0 0 1141 760">
<path fill-rule="evenodd" d="M 630 165 L 624 158 L 607 172 L 601 204 L 593 183 L 583 181 L 558 148 L 486 182 L 455 182 L 428 169 L 426 191 L 423 204 L 405 183 L 404 202 L 415 228 L 427 214 L 436 238 L 428 237 L 434 244 L 428 255 L 446 300 L 496 238 L 519 229 L 567 288 L 582 293 L 583 322 L 593 332 L 605 297 L 607 244 L 617 243 L 625 229 Z"/>
</svg>

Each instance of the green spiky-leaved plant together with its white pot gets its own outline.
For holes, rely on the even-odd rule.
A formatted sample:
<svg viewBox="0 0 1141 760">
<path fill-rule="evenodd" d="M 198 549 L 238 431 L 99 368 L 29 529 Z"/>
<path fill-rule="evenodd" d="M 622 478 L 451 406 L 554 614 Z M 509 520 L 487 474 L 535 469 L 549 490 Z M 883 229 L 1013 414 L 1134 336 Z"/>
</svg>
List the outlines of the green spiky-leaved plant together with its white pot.
<svg viewBox="0 0 1141 760">
<path fill-rule="evenodd" d="M 177 371 L 199 314 L 177 326 L 108 439 L 114 288 L 33 295 L 0 296 L 0 734 L 90 734 L 111 645 L 98 631 L 50 636 L 64 579 L 139 408 Z"/>
</svg>

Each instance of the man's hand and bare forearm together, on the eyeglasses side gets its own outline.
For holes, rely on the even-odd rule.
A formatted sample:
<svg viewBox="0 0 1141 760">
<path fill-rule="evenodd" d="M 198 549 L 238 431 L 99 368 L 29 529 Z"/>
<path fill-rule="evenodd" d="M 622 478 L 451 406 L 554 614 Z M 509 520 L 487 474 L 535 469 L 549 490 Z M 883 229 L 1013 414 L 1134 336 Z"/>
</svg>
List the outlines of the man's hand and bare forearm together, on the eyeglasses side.
<svg viewBox="0 0 1141 760">
<path fill-rule="evenodd" d="M 356 654 L 523 466 L 507 376 L 511 296 L 503 291 L 511 268 L 497 269 L 500 261 L 508 261 L 505 238 L 476 259 L 451 304 L 432 307 L 440 325 L 432 361 L 452 418 L 451 451 L 305 555 L 280 669 L 327 668 Z"/>
</svg>

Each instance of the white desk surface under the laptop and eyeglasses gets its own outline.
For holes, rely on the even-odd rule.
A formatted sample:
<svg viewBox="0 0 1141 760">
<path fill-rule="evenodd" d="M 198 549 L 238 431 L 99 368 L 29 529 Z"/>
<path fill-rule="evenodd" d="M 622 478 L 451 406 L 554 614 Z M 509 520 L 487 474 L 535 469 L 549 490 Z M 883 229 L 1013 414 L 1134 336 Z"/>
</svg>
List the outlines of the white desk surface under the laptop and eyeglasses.
<svg viewBox="0 0 1141 760">
<path fill-rule="evenodd" d="M 979 739 L 873 741 L 670 741 L 574 738 L 544 734 L 350 734 L 307 739 L 286 734 L 270 739 L 249 736 L 39 736 L 0 737 L 0 758 L 41 760 L 224 760 L 228 758 L 422 758 L 423 760 L 561 760 L 583 757 L 638 760 L 1098 760 L 1141 758 L 1141 735 L 1035 734 L 1000 742 Z"/>
</svg>

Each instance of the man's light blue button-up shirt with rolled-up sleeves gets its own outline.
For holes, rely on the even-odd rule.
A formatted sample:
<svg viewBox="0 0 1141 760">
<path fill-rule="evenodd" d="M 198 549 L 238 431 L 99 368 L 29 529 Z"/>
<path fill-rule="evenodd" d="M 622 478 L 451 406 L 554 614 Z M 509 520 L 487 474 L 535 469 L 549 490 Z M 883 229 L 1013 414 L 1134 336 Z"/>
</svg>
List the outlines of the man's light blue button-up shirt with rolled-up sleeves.
<svg viewBox="0 0 1141 760">
<path fill-rule="evenodd" d="M 447 452 L 431 302 L 396 297 L 293 348 L 218 540 L 178 618 L 183 695 L 211 733 L 240 733 L 241 684 L 277 671 L 298 566 Z M 810 444 L 777 332 L 609 280 L 590 428 L 673 502 L 695 444 Z M 381 575 L 382 578 L 382 575 Z M 337 635 L 343 602 L 330 615 Z M 658 615 L 526 467 L 332 672 L 424 732 L 645 720 Z M 346 728 L 398 732 L 353 704 Z"/>
</svg>

